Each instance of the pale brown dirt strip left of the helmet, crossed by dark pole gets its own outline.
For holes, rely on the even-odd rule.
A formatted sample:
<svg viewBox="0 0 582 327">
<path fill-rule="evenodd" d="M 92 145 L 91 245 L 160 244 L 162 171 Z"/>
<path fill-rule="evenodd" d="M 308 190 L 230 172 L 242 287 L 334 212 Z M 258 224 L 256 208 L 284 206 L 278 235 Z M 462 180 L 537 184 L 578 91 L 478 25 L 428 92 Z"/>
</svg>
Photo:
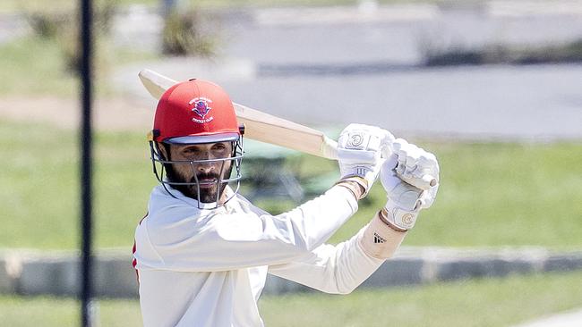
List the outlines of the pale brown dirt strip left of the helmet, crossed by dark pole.
<svg viewBox="0 0 582 327">
<path fill-rule="evenodd" d="M 155 103 L 117 97 L 97 99 L 93 105 L 93 126 L 97 130 L 151 129 Z M 0 118 L 15 122 L 43 122 L 64 129 L 77 129 L 81 122 L 81 101 L 59 97 L 0 98 Z"/>
</svg>

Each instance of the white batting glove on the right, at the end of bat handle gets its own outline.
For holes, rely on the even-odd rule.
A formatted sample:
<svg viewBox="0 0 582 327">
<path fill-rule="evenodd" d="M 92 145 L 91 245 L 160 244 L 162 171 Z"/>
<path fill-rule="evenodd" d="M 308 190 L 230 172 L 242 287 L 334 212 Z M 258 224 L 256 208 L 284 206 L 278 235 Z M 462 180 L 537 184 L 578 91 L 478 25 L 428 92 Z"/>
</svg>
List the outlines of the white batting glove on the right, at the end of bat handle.
<svg viewBox="0 0 582 327">
<path fill-rule="evenodd" d="M 422 180 L 425 175 L 437 180 L 427 190 L 417 189 L 400 178 L 414 181 Z M 400 229 L 409 230 L 415 226 L 418 212 L 434 202 L 439 189 L 439 164 L 432 153 L 398 138 L 381 166 L 380 179 L 388 197 L 386 219 Z"/>
</svg>

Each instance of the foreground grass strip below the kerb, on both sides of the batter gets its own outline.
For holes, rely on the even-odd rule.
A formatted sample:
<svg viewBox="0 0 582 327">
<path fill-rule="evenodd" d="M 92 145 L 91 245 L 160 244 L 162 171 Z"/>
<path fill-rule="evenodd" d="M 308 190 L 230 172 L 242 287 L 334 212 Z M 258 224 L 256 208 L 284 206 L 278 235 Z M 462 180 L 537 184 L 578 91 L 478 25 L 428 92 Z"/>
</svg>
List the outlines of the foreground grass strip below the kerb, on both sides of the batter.
<svg viewBox="0 0 582 327">
<path fill-rule="evenodd" d="M 402 289 L 363 289 L 263 296 L 261 316 L 283 326 L 510 326 L 582 306 L 582 272 L 438 283 Z M 101 326 L 141 326 L 136 300 L 99 300 Z M 69 298 L 0 296 L 0 321 L 13 327 L 78 325 Z"/>
</svg>

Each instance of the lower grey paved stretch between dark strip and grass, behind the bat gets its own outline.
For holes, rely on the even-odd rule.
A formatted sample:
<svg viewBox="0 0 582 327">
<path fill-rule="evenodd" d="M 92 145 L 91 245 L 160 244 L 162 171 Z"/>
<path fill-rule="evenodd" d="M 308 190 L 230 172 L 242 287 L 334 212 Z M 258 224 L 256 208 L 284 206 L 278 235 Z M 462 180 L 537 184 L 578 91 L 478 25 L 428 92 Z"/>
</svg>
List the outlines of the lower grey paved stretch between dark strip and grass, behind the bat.
<svg viewBox="0 0 582 327">
<path fill-rule="evenodd" d="M 167 60 L 119 71 L 119 83 L 155 105 L 135 74 L 215 80 L 235 102 L 309 126 L 379 125 L 403 136 L 550 141 L 582 139 L 582 65 L 264 77 L 240 62 Z M 204 67 L 192 75 L 186 67 Z M 236 78 L 229 72 L 238 71 Z"/>
</svg>

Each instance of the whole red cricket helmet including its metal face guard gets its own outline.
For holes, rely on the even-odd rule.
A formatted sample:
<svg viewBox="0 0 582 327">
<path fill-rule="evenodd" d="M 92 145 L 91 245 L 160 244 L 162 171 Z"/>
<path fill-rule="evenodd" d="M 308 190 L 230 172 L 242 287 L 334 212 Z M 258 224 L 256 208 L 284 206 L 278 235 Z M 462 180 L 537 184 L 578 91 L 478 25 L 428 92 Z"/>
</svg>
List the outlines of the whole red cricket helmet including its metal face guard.
<svg viewBox="0 0 582 327">
<path fill-rule="evenodd" d="M 168 88 L 159 98 L 154 128 L 150 132 L 150 153 L 153 172 L 167 193 L 175 195 L 167 186 L 193 197 L 201 205 L 201 185 L 216 183 L 218 191 L 214 208 L 224 205 L 235 197 L 240 189 L 241 162 L 243 160 L 242 131 L 236 122 L 235 107 L 224 89 L 207 80 L 187 80 Z M 176 160 L 162 155 L 159 143 L 164 144 L 201 144 L 231 142 L 232 154 L 227 158 L 204 160 Z M 196 164 L 220 164 L 219 177 L 215 181 L 175 180 L 170 176 L 175 164 L 189 163 L 192 169 Z M 227 163 L 230 164 L 227 167 Z M 227 167 L 227 168 L 226 168 Z M 228 171 L 226 171 L 228 169 Z M 233 171 L 234 169 L 234 171 Z M 223 172 L 226 175 L 223 176 Z M 231 176 L 231 172 L 234 176 Z M 228 183 L 236 183 L 235 189 L 223 203 L 219 203 L 223 190 Z M 208 200 L 205 200 L 208 202 Z M 210 206 L 211 208 L 211 206 Z"/>
</svg>

